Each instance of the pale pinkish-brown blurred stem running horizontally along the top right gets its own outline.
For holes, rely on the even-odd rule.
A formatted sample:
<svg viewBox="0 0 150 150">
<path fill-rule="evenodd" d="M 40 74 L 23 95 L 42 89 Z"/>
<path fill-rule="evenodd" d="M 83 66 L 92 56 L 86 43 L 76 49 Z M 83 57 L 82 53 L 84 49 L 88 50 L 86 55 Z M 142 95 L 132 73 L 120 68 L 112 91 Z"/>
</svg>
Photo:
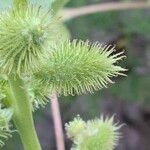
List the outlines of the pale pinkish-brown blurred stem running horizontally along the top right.
<svg viewBox="0 0 150 150">
<path fill-rule="evenodd" d="M 148 2 L 109 2 L 104 4 L 96 4 L 90 6 L 83 6 L 79 8 L 66 8 L 63 10 L 63 19 L 69 20 L 75 17 L 88 15 L 96 12 L 106 12 L 115 10 L 127 9 L 143 9 L 150 8 Z"/>
</svg>

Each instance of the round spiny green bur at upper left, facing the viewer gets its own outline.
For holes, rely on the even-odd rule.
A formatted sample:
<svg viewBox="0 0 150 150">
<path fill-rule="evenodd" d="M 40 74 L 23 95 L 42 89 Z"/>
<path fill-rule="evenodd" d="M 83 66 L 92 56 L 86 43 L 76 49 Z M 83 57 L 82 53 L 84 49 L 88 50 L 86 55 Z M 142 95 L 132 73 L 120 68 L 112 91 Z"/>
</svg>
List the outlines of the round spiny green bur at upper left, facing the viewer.
<svg viewBox="0 0 150 150">
<path fill-rule="evenodd" d="M 6 10 L 0 14 L 0 72 L 32 74 L 47 61 L 54 24 L 40 6 Z M 54 23 L 55 22 L 55 23 Z"/>
</svg>

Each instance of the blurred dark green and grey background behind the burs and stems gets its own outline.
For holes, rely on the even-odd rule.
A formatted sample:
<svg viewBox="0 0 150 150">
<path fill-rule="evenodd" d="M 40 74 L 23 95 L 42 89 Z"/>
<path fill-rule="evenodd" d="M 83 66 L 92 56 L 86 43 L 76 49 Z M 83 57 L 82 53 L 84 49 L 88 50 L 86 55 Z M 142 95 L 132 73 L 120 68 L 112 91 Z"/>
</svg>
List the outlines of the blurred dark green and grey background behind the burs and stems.
<svg viewBox="0 0 150 150">
<path fill-rule="evenodd" d="M 70 0 L 65 7 L 102 2 L 110 0 Z M 63 125 L 78 114 L 85 120 L 115 114 L 116 121 L 125 123 L 116 150 L 150 150 L 150 9 L 99 12 L 68 20 L 65 25 L 71 39 L 99 41 L 125 50 L 127 58 L 121 64 L 128 72 L 127 77 L 119 77 L 114 85 L 92 95 L 60 97 Z M 49 104 L 34 115 L 43 150 L 56 150 Z M 64 136 L 69 150 L 72 143 L 65 132 Z M 19 141 L 14 132 L 3 149 L 22 150 Z"/>
</svg>

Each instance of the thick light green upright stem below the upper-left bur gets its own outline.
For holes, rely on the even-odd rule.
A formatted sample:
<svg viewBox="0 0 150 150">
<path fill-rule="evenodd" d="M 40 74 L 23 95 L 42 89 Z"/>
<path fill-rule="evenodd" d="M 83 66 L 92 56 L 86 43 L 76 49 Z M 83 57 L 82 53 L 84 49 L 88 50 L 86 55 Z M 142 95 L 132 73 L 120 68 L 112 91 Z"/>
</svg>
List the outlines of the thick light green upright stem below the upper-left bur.
<svg viewBox="0 0 150 150">
<path fill-rule="evenodd" d="M 13 121 L 25 150 L 41 150 L 33 123 L 32 106 L 27 88 L 17 75 L 9 77 L 10 104 L 14 110 Z"/>
</svg>

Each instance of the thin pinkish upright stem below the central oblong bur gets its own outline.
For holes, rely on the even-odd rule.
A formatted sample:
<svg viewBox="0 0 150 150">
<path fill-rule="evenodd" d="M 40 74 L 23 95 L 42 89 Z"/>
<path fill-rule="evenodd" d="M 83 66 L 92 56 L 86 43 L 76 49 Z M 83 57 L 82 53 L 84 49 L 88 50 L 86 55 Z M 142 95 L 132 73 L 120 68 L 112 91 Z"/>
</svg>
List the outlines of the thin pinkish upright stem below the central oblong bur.
<svg viewBox="0 0 150 150">
<path fill-rule="evenodd" d="M 58 98 L 55 93 L 51 95 L 50 98 L 51 98 L 51 112 L 52 112 L 52 118 L 54 122 L 57 150 L 65 150 Z"/>
</svg>

